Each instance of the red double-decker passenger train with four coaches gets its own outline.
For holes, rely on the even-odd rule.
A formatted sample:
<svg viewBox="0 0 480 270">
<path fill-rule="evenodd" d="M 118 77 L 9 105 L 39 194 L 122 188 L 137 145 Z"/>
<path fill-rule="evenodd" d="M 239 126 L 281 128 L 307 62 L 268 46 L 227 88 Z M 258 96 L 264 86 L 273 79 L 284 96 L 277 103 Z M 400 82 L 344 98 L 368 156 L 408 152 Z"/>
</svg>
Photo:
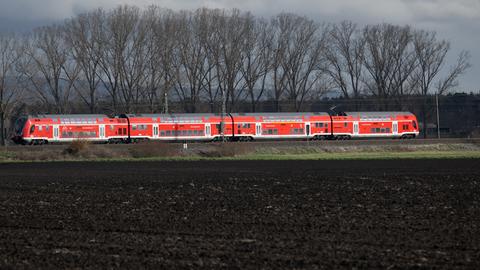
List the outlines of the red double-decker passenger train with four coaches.
<svg viewBox="0 0 480 270">
<path fill-rule="evenodd" d="M 278 139 L 414 138 L 418 122 L 409 112 L 30 115 L 15 123 L 19 144 L 88 140 L 103 143 Z"/>
</svg>

